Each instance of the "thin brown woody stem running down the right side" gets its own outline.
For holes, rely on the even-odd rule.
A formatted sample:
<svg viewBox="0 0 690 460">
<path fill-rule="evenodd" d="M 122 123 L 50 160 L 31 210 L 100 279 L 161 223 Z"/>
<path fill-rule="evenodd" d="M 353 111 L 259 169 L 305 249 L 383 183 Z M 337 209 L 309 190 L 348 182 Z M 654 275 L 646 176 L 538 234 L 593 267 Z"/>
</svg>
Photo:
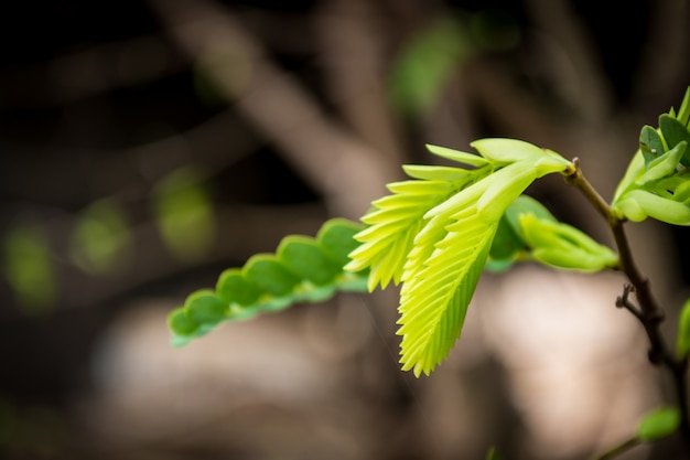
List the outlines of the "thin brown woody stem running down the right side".
<svg viewBox="0 0 690 460">
<path fill-rule="evenodd" d="M 633 312 L 645 329 L 649 339 L 650 349 L 648 357 L 651 364 L 665 366 L 671 374 L 678 408 L 681 414 L 679 432 L 686 451 L 690 454 L 690 419 L 688 416 L 688 395 L 686 391 L 688 361 L 678 359 L 668 349 L 664 340 L 660 329 L 661 322 L 664 321 L 664 313 L 651 293 L 649 280 L 642 275 L 635 264 L 633 252 L 630 250 L 630 245 L 623 227 L 625 221 L 616 217 L 611 212 L 608 203 L 602 199 L 599 192 L 596 192 L 592 184 L 584 178 L 576 158 L 573 160 L 573 164 L 575 167 L 574 171 L 568 171 L 569 174 L 565 175 L 565 181 L 578 188 L 608 223 L 618 249 L 617 269 L 630 281 L 630 286 L 624 288 L 623 297 L 619 298 L 622 307 L 626 307 Z M 632 304 L 627 302 L 627 293 L 630 291 L 635 291 L 639 309 L 632 308 Z"/>
</svg>

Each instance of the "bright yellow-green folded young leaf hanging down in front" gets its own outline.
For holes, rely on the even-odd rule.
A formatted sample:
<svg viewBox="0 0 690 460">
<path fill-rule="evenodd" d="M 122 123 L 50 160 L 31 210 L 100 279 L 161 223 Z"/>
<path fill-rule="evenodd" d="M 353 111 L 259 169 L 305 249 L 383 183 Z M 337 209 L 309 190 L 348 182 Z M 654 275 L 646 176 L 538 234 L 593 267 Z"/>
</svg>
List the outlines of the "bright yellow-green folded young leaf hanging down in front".
<svg viewBox="0 0 690 460">
<path fill-rule="evenodd" d="M 509 151 L 513 142 L 521 152 Z M 400 278 L 397 333 L 402 335 L 403 371 L 429 375 L 448 356 L 460 338 L 504 212 L 537 178 L 572 167 L 557 153 L 530 146 L 507 139 L 474 142 L 494 163 L 516 161 L 465 184 L 418 221 L 421 227 L 411 245 L 407 243 L 409 253 Z M 363 233 L 373 235 L 375 231 Z M 357 250 L 351 254 L 353 259 L 357 256 Z"/>
</svg>

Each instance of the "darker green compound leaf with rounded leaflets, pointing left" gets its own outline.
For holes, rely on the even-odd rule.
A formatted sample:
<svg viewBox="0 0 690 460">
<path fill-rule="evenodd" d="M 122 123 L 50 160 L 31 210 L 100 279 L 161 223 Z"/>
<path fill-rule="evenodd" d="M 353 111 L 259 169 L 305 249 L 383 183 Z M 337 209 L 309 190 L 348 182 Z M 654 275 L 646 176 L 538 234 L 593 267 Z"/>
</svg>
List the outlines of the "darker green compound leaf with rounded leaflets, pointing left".
<svg viewBox="0 0 690 460">
<path fill-rule="evenodd" d="M 224 270 L 215 290 L 187 296 L 168 317 L 173 346 L 202 336 L 224 321 L 251 319 L 299 302 L 317 302 L 337 291 L 366 291 L 368 271 L 344 271 L 353 236 L 362 225 L 345 218 L 325 222 L 316 238 L 285 236 L 277 254 L 258 254 L 241 268 Z"/>
</svg>

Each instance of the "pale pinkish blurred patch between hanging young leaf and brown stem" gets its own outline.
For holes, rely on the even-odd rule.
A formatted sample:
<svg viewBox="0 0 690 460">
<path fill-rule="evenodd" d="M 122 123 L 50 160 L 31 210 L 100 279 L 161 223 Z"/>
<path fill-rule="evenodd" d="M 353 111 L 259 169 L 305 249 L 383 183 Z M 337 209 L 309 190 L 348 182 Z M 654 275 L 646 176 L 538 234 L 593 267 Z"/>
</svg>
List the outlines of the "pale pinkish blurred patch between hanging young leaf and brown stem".
<svg viewBox="0 0 690 460">
<path fill-rule="evenodd" d="M 530 458 L 572 458 L 629 438 L 660 399 L 647 338 L 614 307 L 624 279 L 521 267 L 484 292 L 489 347 L 508 371 Z"/>
</svg>

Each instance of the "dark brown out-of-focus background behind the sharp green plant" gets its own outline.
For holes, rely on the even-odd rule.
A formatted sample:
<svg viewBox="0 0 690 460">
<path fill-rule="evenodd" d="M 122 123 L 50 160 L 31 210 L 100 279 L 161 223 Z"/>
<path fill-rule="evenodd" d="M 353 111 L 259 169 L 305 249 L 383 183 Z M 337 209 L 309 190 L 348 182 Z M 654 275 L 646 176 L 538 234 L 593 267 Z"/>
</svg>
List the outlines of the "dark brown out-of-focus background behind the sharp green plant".
<svg viewBox="0 0 690 460">
<path fill-rule="evenodd" d="M 486 275 L 419 379 L 395 289 L 183 349 L 165 317 L 282 236 L 357 218 L 400 164 L 440 161 L 424 143 L 524 139 L 611 199 L 690 84 L 688 3 L 6 2 L 0 458 L 574 460 L 626 439 L 672 393 L 613 274 Z M 610 243 L 562 179 L 529 193 Z M 688 233 L 630 231 L 670 336 Z"/>
</svg>

